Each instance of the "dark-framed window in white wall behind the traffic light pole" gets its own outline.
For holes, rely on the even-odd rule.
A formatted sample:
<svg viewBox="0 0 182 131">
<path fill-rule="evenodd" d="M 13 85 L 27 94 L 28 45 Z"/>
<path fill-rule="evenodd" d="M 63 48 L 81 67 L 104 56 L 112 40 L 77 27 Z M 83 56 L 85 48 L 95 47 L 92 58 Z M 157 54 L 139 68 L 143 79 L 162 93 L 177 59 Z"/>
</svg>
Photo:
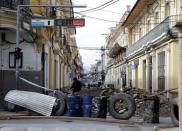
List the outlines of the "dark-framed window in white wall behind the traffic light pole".
<svg viewBox="0 0 182 131">
<path fill-rule="evenodd" d="M 19 68 L 23 67 L 23 52 L 20 52 Z M 9 68 L 16 68 L 15 52 L 9 52 Z"/>
</svg>

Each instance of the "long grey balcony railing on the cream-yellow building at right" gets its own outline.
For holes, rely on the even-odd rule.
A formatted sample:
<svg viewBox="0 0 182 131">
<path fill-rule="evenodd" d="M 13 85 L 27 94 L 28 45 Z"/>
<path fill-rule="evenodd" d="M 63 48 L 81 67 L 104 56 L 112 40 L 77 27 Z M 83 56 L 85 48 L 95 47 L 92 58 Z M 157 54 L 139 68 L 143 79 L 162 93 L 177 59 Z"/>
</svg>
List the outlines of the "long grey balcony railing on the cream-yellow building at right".
<svg viewBox="0 0 182 131">
<path fill-rule="evenodd" d="M 162 21 L 159 25 L 154 27 L 149 33 L 144 35 L 141 39 L 139 39 L 137 42 L 135 42 L 130 48 L 126 50 L 126 56 L 131 55 L 134 53 L 134 51 L 138 51 L 143 46 L 147 46 L 149 42 L 152 42 L 159 36 L 161 36 L 163 33 L 167 33 L 169 30 L 171 30 L 173 25 L 179 21 L 181 15 L 174 15 L 167 17 L 164 21 Z"/>
</svg>

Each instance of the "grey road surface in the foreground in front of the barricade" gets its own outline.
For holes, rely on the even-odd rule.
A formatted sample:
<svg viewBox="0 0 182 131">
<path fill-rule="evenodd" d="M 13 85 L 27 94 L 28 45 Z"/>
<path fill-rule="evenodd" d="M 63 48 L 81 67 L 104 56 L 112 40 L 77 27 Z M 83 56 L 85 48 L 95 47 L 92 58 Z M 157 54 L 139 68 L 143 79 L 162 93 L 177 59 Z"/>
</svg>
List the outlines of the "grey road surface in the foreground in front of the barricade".
<svg viewBox="0 0 182 131">
<path fill-rule="evenodd" d="M 141 120 L 114 120 L 107 118 L 71 118 L 71 117 L 23 117 L 12 120 L 3 120 L 0 123 L 0 131 L 158 131 L 169 128 L 172 130 L 169 118 L 161 118 L 160 124 L 147 124 Z M 36 119 L 35 119 L 36 118 Z M 177 130 L 178 128 L 174 128 Z M 178 129 L 179 130 L 179 129 Z"/>
</svg>

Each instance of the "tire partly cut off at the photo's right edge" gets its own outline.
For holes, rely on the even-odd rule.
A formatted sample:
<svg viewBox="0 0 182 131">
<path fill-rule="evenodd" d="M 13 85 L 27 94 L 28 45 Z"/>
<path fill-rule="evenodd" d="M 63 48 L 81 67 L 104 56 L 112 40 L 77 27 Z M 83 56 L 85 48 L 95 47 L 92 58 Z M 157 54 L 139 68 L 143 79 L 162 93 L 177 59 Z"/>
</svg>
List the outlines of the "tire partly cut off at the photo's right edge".
<svg viewBox="0 0 182 131">
<path fill-rule="evenodd" d="M 179 126 L 179 104 L 178 98 L 175 98 L 170 103 L 171 107 L 171 120 L 175 126 Z"/>
</svg>

